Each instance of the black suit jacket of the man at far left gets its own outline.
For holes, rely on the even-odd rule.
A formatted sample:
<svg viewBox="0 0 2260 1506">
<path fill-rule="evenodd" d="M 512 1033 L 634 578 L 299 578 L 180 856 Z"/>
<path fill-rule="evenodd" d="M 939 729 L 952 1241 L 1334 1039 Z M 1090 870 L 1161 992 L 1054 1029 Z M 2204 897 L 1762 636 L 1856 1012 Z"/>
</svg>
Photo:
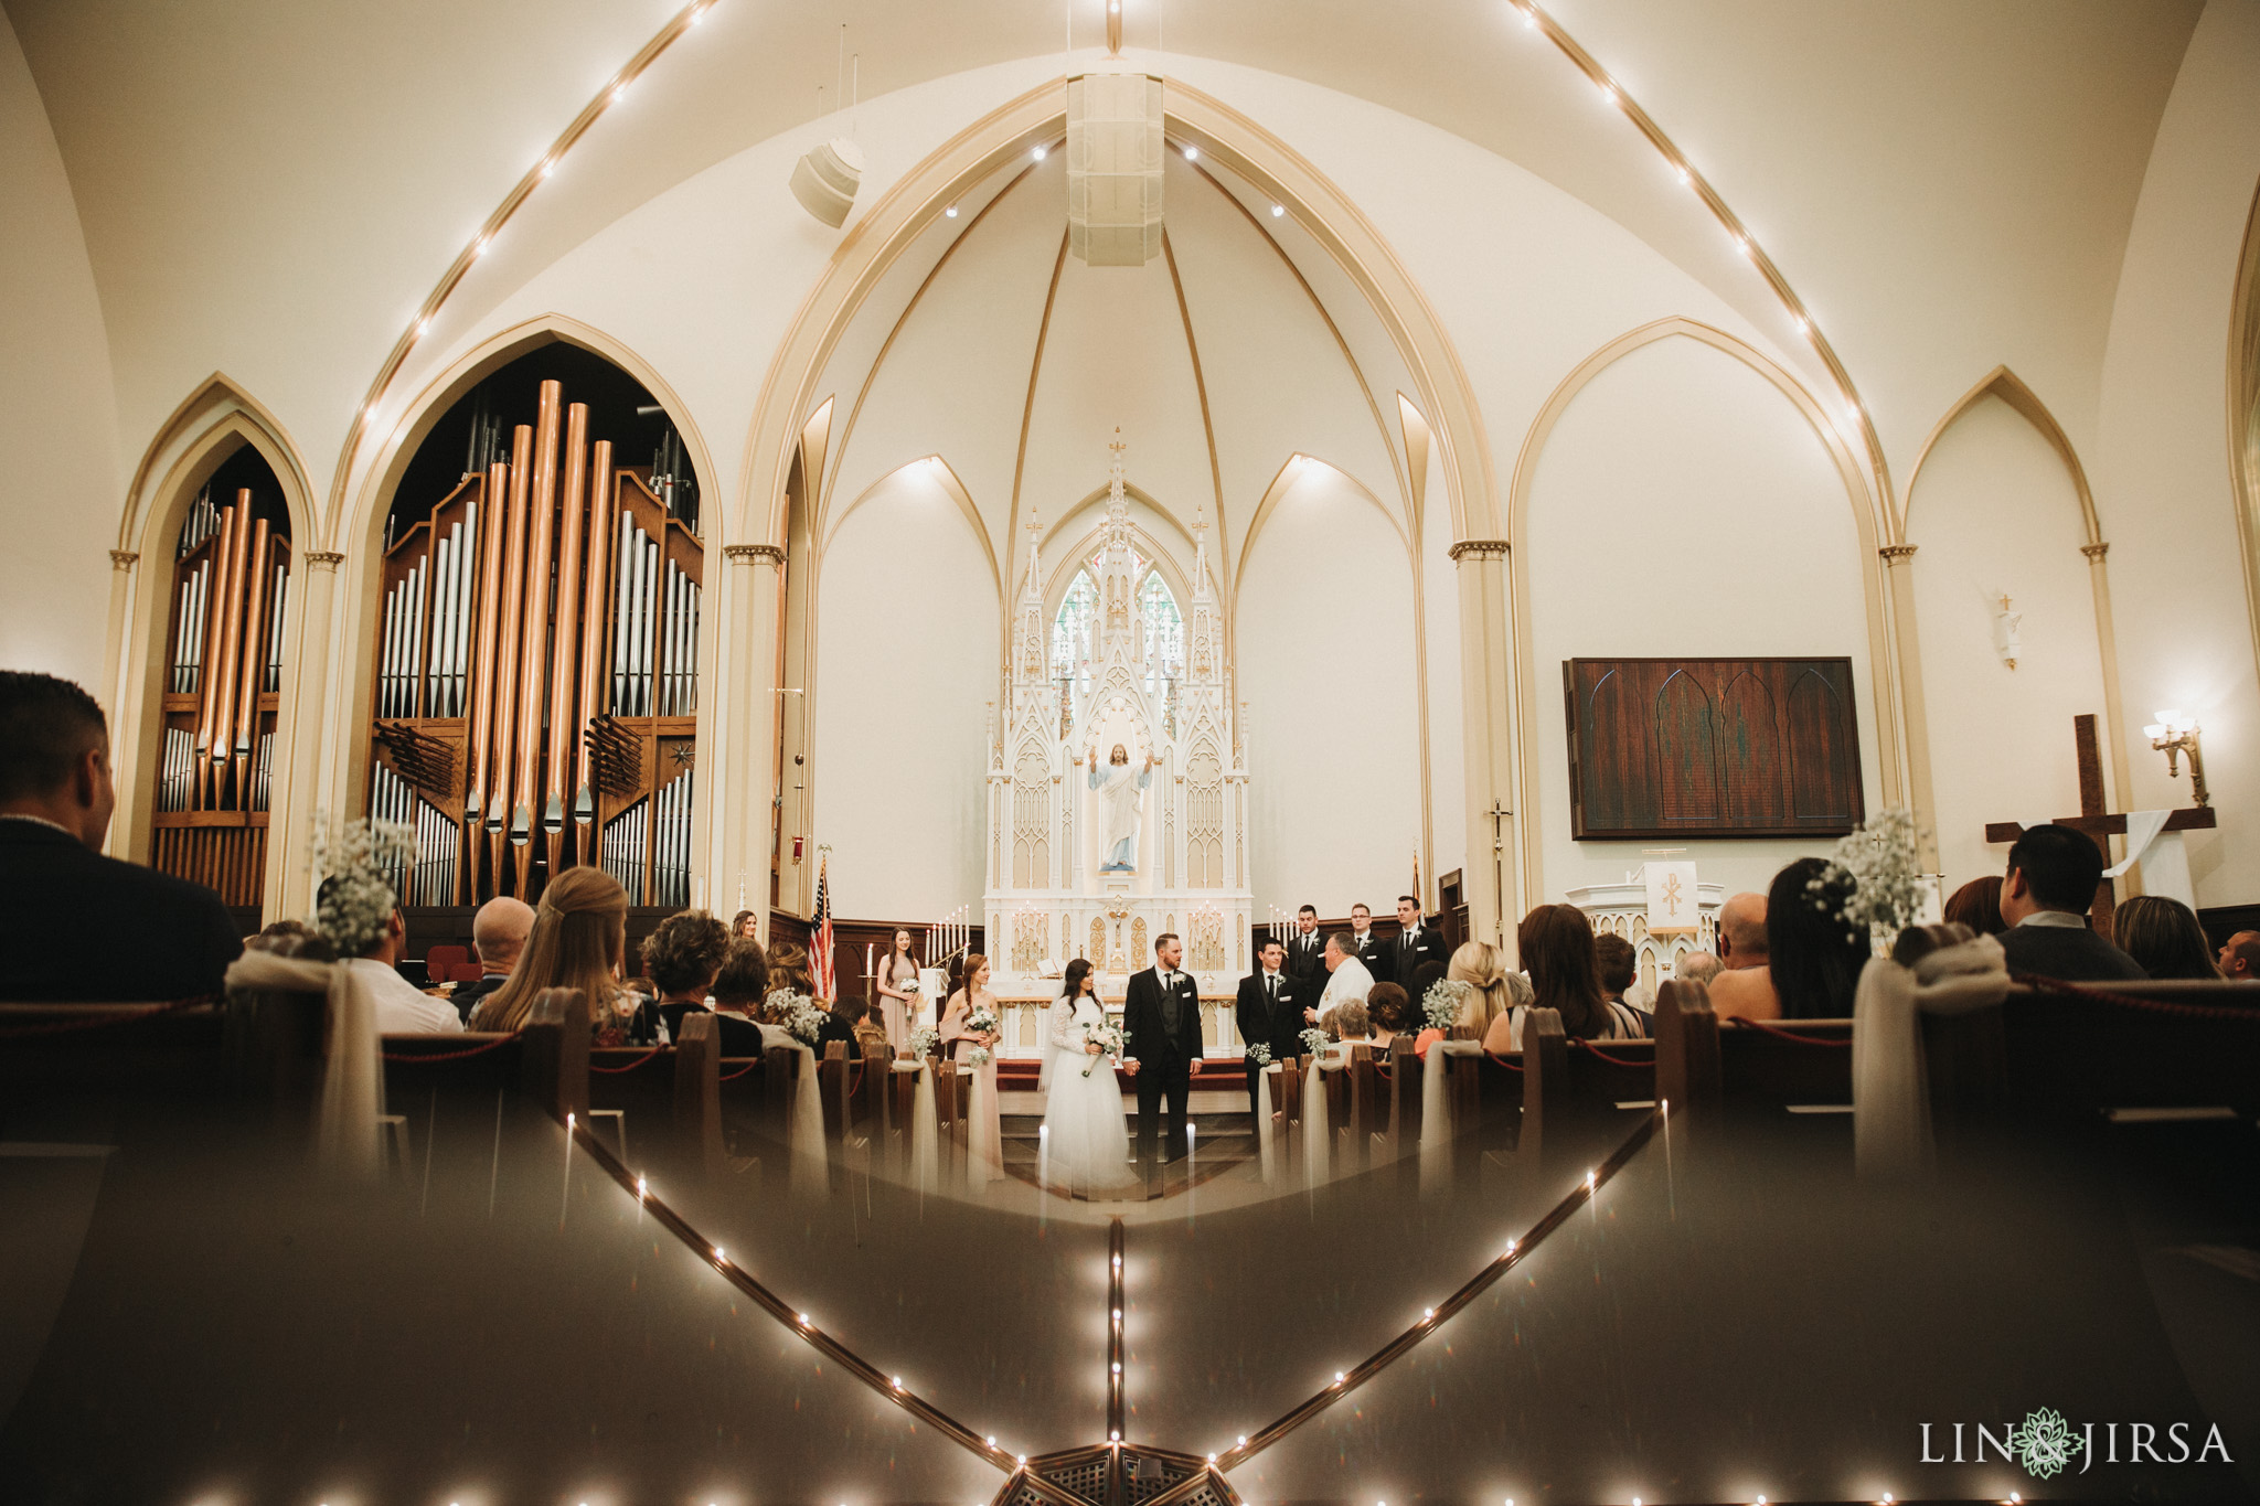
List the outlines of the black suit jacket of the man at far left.
<svg viewBox="0 0 2260 1506">
<path fill-rule="evenodd" d="M 244 953 L 201 883 L 104 858 L 41 822 L 0 820 L 0 998 L 158 1002 L 217 993 Z"/>
</svg>

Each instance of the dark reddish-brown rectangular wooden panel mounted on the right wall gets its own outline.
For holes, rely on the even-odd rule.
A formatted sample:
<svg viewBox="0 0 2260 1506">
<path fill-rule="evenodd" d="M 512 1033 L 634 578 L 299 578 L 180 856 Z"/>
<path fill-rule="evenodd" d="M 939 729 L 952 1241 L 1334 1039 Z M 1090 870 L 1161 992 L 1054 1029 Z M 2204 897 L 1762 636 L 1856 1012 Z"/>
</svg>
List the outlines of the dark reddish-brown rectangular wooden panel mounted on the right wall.
<svg viewBox="0 0 2260 1506">
<path fill-rule="evenodd" d="M 1851 659 L 1564 659 L 1571 835 L 1842 835 Z"/>
</svg>

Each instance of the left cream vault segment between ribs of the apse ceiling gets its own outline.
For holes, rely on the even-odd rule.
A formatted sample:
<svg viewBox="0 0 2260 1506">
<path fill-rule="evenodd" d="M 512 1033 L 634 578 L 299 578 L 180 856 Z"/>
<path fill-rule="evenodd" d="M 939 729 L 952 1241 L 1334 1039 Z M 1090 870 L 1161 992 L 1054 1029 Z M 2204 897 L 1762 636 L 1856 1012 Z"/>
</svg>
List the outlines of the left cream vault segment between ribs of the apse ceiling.
<svg viewBox="0 0 2260 1506">
<path fill-rule="evenodd" d="M 1044 287 L 1060 248 L 1064 187 L 1053 154 L 1015 174 L 965 226 L 909 307 L 897 309 L 877 366 L 857 375 L 829 492 L 857 497 L 904 461 L 947 454 L 981 508 L 990 546 L 1012 540 L 1012 452 Z"/>
</svg>

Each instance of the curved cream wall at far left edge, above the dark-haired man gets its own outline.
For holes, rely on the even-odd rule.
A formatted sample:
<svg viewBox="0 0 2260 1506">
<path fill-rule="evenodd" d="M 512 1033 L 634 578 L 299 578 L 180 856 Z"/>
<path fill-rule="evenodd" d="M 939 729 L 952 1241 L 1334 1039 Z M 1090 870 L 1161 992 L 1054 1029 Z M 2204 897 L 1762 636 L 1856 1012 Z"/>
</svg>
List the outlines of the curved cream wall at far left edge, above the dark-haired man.
<svg viewBox="0 0 2260 1506">
<path fill-rule="evenodd" d="M 0 662 L 108 680 L 104 603 L 124 474 L 111 354 L 70 178 L 38 88 L 0 16 L 0 445 L 41 456 L 52 485 L 20 488 L 36 528 L 9 528 L 0 551 Z M 36 359 L 29 354 L 36 352 Z M 56 461 L 68 461 L 56 465 Z"/>
</svg>

